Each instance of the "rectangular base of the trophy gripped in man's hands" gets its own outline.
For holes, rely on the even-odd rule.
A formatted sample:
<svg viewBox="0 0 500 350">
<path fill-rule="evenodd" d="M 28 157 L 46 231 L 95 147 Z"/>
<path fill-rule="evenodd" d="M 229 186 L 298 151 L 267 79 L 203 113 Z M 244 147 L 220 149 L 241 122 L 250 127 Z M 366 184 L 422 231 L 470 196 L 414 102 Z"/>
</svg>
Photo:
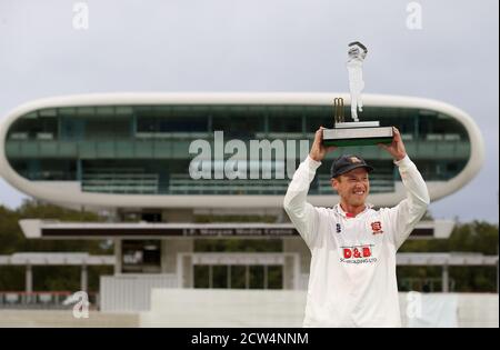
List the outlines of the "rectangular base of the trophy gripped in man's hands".
<svg viewBox="0 0 500 350">
<path fill-rule="evenodd" d="M 359 123 L 360 127 L 353 124 Z M 378 143 L 391 143 L 393 133 L 392 127 L 364 127 L 361 122 L 349 123 L 350 126 L 339 126 L 334 129 L 323 130 L 323 144 L 336 147 L 351 146 L 374 146 Z"/>
</svg>

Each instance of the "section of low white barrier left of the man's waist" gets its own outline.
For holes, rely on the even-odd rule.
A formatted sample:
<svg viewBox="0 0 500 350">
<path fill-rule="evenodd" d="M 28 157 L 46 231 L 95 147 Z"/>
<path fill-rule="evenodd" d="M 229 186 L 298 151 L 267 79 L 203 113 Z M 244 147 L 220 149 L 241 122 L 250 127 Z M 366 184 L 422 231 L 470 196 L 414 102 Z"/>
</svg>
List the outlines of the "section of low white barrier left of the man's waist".
<svg viewBox="0 0 500 350">
<path fill-rule="evenodd" d="M 154 289 L 141 327 L 301 327 L 306 292 Z"/>
</svg>

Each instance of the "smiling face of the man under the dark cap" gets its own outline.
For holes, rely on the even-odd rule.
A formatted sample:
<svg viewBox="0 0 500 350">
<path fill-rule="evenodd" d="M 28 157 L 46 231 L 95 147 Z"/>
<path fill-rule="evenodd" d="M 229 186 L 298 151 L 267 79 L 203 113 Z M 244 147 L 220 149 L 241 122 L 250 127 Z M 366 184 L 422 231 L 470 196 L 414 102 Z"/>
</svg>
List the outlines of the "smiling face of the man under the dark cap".
<svg viewBox="0 0 500 350">
<path fill-rule="evenodd" d="M 331 186 L 347 204 L 363 206 L 370 191 L 368 171 L 364 168 L 353 169 L 332 179 Z"/>
</svg>

